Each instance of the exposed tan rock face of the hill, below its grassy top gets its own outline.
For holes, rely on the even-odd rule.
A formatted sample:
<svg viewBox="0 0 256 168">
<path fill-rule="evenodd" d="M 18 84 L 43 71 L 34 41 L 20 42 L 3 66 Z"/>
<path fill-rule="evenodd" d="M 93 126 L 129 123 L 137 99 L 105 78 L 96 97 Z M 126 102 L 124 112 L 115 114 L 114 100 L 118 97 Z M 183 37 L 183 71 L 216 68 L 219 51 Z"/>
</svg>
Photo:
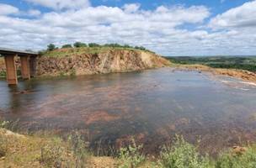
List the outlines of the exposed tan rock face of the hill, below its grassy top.
<svg viewBox="0 0 256 168">
<path fill-rule="evenodd" d="M 168 65 L 168 60 L 139 50 L 107 50 L 98 54 L 72 53 L 66 56 L 41 56 L 38 76 L 88 75 L 109 72 L 139 71 Z"/>
</svg>

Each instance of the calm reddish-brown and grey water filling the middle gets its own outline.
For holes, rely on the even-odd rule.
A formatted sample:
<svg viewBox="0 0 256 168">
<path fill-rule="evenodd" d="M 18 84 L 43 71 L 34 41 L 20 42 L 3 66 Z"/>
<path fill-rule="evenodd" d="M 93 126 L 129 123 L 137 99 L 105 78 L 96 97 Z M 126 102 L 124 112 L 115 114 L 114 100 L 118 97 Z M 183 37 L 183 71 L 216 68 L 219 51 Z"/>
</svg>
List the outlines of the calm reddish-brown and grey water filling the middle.
<svg viewBox="0 0 256 168">
<path fill-rule="evenodd" d="M 215 154 L 256 140 L 256 87 L 168 68 L 20 81 L 18 87 L 0 81 L 0 116 L 19 119 L 22 129 L 80 130 L 99 153 L 132 138 L 155 152 L 183 134 Z"/>
</svg>

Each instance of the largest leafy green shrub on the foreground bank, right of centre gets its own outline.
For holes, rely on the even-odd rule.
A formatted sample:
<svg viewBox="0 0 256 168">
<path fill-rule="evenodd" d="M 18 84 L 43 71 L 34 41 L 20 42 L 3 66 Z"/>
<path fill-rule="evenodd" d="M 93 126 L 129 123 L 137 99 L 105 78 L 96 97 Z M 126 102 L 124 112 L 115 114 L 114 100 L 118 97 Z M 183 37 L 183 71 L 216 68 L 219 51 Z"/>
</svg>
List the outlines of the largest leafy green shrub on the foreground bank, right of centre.
<svg viewBox="0 0 256 168">
<path fill-rule="evenodd" d="M 160 155 L 160 167 L 171 168 L 211 168 L 208 157 L 200 156 L 194 145 L 177 136 L 172 147 L 164 147 Z"/>
</svg>

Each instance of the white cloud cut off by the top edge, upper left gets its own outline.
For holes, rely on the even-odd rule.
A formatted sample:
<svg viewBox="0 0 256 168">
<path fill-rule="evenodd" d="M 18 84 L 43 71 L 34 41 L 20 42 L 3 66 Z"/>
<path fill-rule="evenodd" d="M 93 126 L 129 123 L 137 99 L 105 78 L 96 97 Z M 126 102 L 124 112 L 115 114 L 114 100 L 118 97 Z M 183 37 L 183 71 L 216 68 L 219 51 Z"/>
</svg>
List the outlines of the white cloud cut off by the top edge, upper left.
<svg viewBox="0 0 256 168">
<path fill-rule="evenodd" d="M 90 6 L 88 0 L 25 0 L 29 3 L 44 6 L 46 8 L 61 9 L 79 9 Z"/>
</svg>

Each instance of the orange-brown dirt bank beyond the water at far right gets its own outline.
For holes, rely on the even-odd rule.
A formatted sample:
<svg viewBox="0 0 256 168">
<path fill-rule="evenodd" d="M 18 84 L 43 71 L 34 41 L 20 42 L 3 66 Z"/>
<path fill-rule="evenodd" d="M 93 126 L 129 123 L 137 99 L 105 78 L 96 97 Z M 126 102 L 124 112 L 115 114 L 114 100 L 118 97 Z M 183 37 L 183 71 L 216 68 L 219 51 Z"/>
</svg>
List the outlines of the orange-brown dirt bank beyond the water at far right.
<svg viewBox="0 0 256 168">
<path fill-rule="evenodd" d="M 173 65 L 173 67 L 178 70 L 184 71 L 208 71 L 211 72 L 213 75 L 232 76 L 243 79 L 244 81 L 256 82 L 256 73 L 253 73 L 251 71 L 211 68 L 209 66 L 202 65 Z"/>
</svg>

